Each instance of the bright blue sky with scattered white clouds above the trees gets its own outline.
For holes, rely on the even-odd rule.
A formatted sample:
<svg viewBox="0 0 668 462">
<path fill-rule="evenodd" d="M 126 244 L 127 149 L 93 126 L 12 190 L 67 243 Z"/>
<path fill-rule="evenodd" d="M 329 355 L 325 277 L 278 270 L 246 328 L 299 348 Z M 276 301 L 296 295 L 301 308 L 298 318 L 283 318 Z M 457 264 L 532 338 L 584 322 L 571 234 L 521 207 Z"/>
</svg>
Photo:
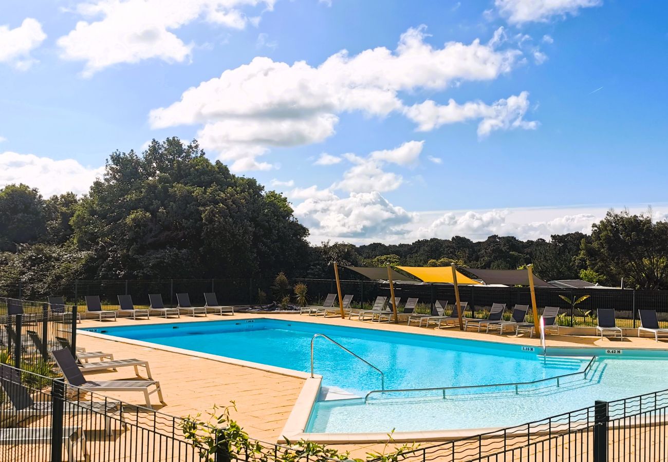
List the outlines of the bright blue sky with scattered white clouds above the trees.
<svg viewBox="0 0 668 462">
<path fill-rule="evenodd" d="M 3 0 L 0 187 L 196 138 L 309 240 L 668 218 L 668 3 Z"/>
</svg>

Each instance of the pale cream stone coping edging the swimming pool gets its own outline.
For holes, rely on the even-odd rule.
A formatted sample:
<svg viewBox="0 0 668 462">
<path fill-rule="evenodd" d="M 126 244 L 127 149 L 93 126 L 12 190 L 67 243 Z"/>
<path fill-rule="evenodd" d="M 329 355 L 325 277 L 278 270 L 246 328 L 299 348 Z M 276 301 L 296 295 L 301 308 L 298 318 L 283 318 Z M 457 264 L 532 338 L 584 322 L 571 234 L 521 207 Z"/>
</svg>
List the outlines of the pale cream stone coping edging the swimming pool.
<svg viewBox="0 0 668 462">
<path fill-rule="evenodd" d="M 273 317 L 265 317 L 265 316 L 259 316 L 256 319 L 265 319 L 265 320 L 277 320 L 276 318 Z M 218 322 L 222 321 L 224 319 L 211 319 L 211 320 L 200 320 L 198 322 Z M 231 319 L 229 319 L 231 320 Z M 281 319 L 279 319 L 281 320 Z M 180 321 L 174 320 L 174 323 L 178 323 Z M 293 320 L 292 322 L 305 322 L 308 324 L 318 324 L 317 322 L 309 322 L 308 320 L 304 321 L 296 321 Z M 143 324 L 145 326 L 149 325 L 160 325 L 160 323 L 150 323 L 150 324 Z M 336 325 L 336 324 L 329 324 L 329 325 Z M 361 329 L 369 329 L 369 330 L 380 330 L 384 331 L 382 328 L 375 328 L 375 326 L 347 326 L 349 328 L 361 328 Z M 250 369 L 257 369 L 259 371 L 265 371 L 268 373 L 275 373 L 279 375 L 285 375 L 287 377 L 295 377 L 298 379 L 304 379 L 304 385 L 302 386 L 301 391 L 299 392 L 299 395 L 297 397 L 297 400 L 295 401 L 295 404 L 293 405 L 293 409 L 291 410 L 290 415 L 288 416 L 288 419 L 283 427 L 283 431 L 281 431 L 281 436 L 277 439 L 278 443 L 287 443 L 288 440 L 290 441 L 295 441 L 299 439 L 305 439 L 308 441 L 313 441 L 317 443 L 325 443 L 325 444 L 349 444 L 349 443 L 385 443 L 389 439 L 389 435 L 387 432 L 369 432 L 369 433 L 307 433 L 305 430 L 308 426 L 309 419 L 311 417 L 311 413 L 313 411 L 313 406 L 317 402 L 317 399 L 319 397 L 319 393 L 321 390 L 321 383 L 322 383 L 322 376 L 314 374 L 313 377 L 311 377 L 311 374 L 301 372 L 301 371 L 295 371 L 293 369 L 287 369 L 283 367 L 277 367 L 277 366 L 271 366 L 271 365 L 264 365 L 261 363 L 253 363 L 252 361 L 244 361 L 241 359 L 234 359 L 234 358 L 228 358 L 224 357 L 222 355 L 212 355 L 211 353 L 200 353 L 197 351 L 192 351 L 188 349 L 181 349 L 175 346 L 167 346 L 167 345 L 162 345 L 158 343 L 152 343 L 152 342 L 146 342 L 144 340 L 136 340 L 133 338 L 124 338 L 124 337 L 118 337 L 114 335 L 109 335 L 109 334 L 101 334 L 98 332 L 92 332 L 90 330 L 85 330 L 86 328 L 80 328 L 77 329 L 77 333 L 79 334 L 84 334 L 88 336 L 92 336 L 94 338 L 102 338 L 104 340 L 110 340 L 110 341 L 115 341 L 115 342 L 121 342 L 121 343 L 126 343 L 126 344 L 134 344 L 136 346 L 143 346 L 146 348 L 150 349 L 156 349 L 156 350 L 162 350 L 162 351 L 168 351 L 170 353 L 176 353 L 179 355 L 186 355 L 190 357 L 198 357 L 202 359 L 209 359 L 211 361 L 218 361 L 219 363 L 227 363 L 230 365 L 237 365 L 240 367 L 248 367 Z M 417 335 L 426 335 L 430 337 L 441 337 L 440 335 L 431 333 L 431 332 L 404 332 L 408 334 L 417 334 Z M 452 337 L 451 337 L 452 338 Z M 473 341 L 473 342 L 486 342 L 486 343 L 493 343 L 493 344 L 504 344 L 508 345 L 507 342 L 496 342 L 494 340 L 476 340 L 476 339 L 464 339 L 468 341 Z M 534 346 L 534 345 L 526 345 L 526 344 L 519 344 L 519 343 L 512 343 L 516 346 L 530 346 L 532 349 L 535 349 L 536 355 L 540 355 L 540 346 Z M 625 348 L 617 348 L 614 349 L 615 351 L 621 351 L 624 350 Z M 604 348 L 601 346 L 589 346 L 589 345 L 582 345 L 582 346 L 548 346 L 546 351 L 552 352 L 552 355 L 555 356 L 566 356 L 566 357 L 581 357 L 580 355 L 574 355 L 572 353 L 576 351 L 582 351 L 582 350 L 589 350 L 589 351 L 605 351 L 605 350 L 613 350 L 609 348 Z M 629 351 L 633 351 L 634 353 L 637 353 L 638 351 L 656 351 L 654 349 L 645 349 L 645 348 L 638 348 L 638 347 L 631 347 L 627 348 Z M 555 351 L 559 351 L 560 353 L 554 353 Z M 568 352 L 568 353 L 566 353 Z M 596 355 L 596 356 L 609 356 L 607 352 L 603 355 Z M 396 442 L 396 443 L 411 443 L 411 442 L 424 442 L 424 441 L 450 441 L 450 440 L 456 440 L 456 439 L 462 439 L 462 438 L 467 438 L 467 437 L 472 437 L 476 435 L 480 435 L 482 433 L 492 433 L 494 431 L 498 431 L 500 429 L 504 429 L 506 427 L 480 427 L 480 428 L 475 428 L 475 429 L 450 429 L 450 430 L 428 430 L 428 431 L 402 431 L 402 432 L 393 432 L 391 435 L 391 441 Z"/>
</svg>

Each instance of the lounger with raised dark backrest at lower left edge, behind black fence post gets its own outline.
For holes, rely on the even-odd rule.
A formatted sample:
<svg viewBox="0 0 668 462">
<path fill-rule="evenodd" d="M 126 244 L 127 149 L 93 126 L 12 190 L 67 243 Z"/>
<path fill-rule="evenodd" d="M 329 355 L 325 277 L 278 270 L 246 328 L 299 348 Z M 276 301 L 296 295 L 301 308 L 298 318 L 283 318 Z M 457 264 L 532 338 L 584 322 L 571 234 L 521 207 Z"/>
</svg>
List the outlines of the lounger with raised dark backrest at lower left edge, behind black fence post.
<svg viewBox="0 0 668 462">
<path fill-rule="evenodd" d="M 30 396 L 30 391 L 21 384 L 20 372 L 18 369 L 7 365 L 0 365 L 0 384 L 9 397 L 9 402 L 13 407 L 13 416 L 19 423 L 23 419 L 34 419 L 53 413 L 53 403 L 51 401 L 35 402 Z M 63 406 L 65 414 L 83 414 L 95 412 L 104 415 L 105 431 L 107 435 L 112 434 L 112 414 L 117 414 L 121 421 L 124 421 L 121 412 L 120 403 L 114 400 L 105 401 L 65 401 Z"/>
</svg>

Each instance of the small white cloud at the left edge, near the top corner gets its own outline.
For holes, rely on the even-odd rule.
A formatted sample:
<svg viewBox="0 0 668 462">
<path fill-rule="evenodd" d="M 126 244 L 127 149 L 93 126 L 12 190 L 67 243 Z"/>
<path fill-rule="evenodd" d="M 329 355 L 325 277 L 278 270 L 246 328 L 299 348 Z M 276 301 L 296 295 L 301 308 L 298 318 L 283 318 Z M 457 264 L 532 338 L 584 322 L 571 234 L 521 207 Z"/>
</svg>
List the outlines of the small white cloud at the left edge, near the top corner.
<svg viewBox="0 0 668 462">
<path fill-rule="evenodd" d="M 9 29 L 7 25 L 0 26 L 0 63 L 8 63 L 23 71 L 29 68 L 35 59 L 30 57 L 30 51 L 39 47 L 46 39 L 46 34 L 37 19 L 27 17 L 19 27 Z"/>
</svg>

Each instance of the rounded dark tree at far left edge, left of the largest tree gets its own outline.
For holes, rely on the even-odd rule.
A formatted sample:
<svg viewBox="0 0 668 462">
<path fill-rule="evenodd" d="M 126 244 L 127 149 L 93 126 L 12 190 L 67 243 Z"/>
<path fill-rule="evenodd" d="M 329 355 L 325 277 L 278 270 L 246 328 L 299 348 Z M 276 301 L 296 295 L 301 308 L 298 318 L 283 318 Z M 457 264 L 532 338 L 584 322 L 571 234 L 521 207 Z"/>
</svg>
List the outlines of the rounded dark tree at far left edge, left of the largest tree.
<svg viewBox="0 0 668 462">
<path fill-rule="evenodd" d="M 44 200 L 36 189 L 10 184 L 0 190 L 0 251 L 16 252 L 45 234 Z"/>
</svg>

